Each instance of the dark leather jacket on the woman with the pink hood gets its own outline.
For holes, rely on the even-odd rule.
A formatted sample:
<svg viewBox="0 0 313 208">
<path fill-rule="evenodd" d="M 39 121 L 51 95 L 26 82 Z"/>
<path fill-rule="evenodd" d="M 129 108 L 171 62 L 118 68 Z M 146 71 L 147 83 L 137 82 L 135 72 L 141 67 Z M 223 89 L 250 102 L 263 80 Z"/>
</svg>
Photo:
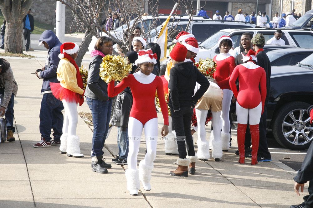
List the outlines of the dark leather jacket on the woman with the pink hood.
<svg viewBox="0 0 313 208">
<path fill-rule="evenodd" d="M 85 96 L 91 99 L 107 101 L 109 99 L 108 84 L 99 75 L 101 62 L 102 57 L 99 55 L 92 57 L 90 60 Z"/>
</svg>

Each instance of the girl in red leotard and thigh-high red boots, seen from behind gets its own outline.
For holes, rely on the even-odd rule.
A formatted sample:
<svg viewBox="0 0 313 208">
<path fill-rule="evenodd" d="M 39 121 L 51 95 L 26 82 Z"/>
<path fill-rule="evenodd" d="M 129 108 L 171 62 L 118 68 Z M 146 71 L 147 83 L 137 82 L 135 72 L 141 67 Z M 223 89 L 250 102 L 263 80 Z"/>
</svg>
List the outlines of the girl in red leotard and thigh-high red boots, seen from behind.
<svg viewBox="0 0 313 208">
<path fill-rule="evenodd" d="M 257 58 L 254 51 L 250 50 L 244 56 L 243 62 L 244 64 L 236 66 L 233 70 L 229 84 L 237 99 L 236 114 L 238 121 L 237 143 L 239 162 L 244 164 L 244 139 L 249 118 L 252 142 L 251 165 L 255 165 L 258 164 L 259 122 L 264 111 L 266 98 L 266 74 L 262 67 L 255 64 Z M 239 92 L 236 87 L 237 78 L 239 79 Z"/>
</svg>

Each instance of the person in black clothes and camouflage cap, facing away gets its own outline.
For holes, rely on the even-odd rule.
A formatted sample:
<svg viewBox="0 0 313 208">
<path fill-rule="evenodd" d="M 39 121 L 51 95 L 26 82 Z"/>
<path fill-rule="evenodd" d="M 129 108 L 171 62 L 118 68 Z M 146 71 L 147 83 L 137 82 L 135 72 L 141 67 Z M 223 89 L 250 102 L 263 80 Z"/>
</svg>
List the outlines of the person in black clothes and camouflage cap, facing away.
<svg viewBox="0 0 313 208">
<path fill-rule="evenodd" d="M 269 152 L 266 138 L 266 109 L 270 95 L 271 63 L 269 61 L 269 57 L 263 50 L 265 37 L 261 33 L 258 33 L 252 38 L 251 43 L 255 51 L 256 58 L 258 59 L 258 65 L 264 68 L 266 74 L 266 99 L 264 103 L 264 113 L 261 115 L 261 120 L 259 123 L 260 140 L 258 150 L 258 162 L 269 162 L 272 161 L 272 157 L 271 153 Z"/>
</svg>

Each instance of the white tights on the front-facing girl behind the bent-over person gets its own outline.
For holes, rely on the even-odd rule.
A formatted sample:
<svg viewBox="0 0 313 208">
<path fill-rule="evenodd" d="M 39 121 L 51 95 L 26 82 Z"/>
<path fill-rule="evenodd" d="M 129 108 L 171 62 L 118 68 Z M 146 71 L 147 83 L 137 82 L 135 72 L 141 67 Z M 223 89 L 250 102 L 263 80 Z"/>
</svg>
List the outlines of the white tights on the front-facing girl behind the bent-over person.
<svg viewBox="0 0 313 208">
<path fill-rule="evenodd" d="M 229 133 L 230 131 L 229 110 L 232 98 L 233 91 L 230 89 L 223 89 L 222 114 L 220 120 L 220 126 L 222 127 L 223 133 Z"/>
</svg>

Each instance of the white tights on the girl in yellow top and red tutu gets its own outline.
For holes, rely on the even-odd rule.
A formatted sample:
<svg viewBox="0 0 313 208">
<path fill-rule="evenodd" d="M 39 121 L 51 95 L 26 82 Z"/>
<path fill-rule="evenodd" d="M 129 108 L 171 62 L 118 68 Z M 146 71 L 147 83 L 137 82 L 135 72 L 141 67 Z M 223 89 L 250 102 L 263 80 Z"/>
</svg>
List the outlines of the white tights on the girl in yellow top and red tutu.
<svg viewBox="0 0 313 208">
<path fill-rule="evenodd" d="M 77 103 L 67 102 L 62 100 L 64 105 L 64 121 L 63 121 L 63 134 L 67 133 L 69 136 L 76 135 L 76 128 L 78 123 Z"/>
</svg>

